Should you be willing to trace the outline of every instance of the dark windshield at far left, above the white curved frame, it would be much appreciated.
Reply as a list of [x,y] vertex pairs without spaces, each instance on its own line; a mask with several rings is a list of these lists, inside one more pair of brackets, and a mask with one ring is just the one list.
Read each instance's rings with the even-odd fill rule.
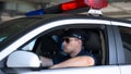
[[31,23],[34,23],[38,20],[39,18],[19,18],[0,24],[0,42],[13,35],[16,35],[22,29],[32,25]]

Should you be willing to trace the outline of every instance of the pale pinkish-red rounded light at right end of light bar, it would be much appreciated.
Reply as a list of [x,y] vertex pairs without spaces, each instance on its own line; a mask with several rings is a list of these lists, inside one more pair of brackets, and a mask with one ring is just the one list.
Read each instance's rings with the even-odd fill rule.
[[84,0],[93,9],[102,9],[108,5],[107,0]]

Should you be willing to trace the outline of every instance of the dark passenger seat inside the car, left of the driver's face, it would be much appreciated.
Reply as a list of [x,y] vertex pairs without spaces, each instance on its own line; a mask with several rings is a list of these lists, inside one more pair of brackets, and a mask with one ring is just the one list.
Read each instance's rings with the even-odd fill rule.
[[33,52],[38,55],[53,58],[60,52],[60,48],[51,36],[44,35],[36,40]]

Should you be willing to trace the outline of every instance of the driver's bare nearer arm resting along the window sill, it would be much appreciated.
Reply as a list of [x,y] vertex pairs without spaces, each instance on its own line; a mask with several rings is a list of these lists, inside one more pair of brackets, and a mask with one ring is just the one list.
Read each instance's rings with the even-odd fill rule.
[[92,66],[95,64],[95,61],[92,57],[83,55],[83,57],[75,57],[69,59],[64,62],[56,64],[50,69],[58,69],[58,67],[74,67],[74,66]]

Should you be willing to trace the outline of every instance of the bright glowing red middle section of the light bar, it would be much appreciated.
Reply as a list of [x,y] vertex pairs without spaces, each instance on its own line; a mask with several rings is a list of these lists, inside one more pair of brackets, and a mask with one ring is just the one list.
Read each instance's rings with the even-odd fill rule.
[[61,4],[62,11],[70,11],[79,8],[87,7],[87,4],[84,3],[84,0],[75,0],[70,1]]

